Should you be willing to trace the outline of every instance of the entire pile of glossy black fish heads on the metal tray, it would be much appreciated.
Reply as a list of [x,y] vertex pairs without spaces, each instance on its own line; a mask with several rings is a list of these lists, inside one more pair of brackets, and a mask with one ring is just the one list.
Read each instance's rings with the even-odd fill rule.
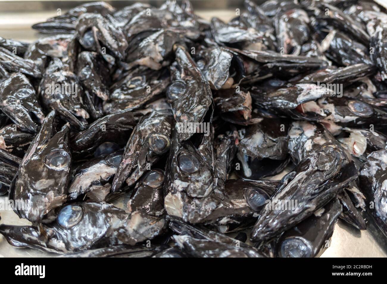
[[11,245],[317,257],[362,211],[387,237],[386,10],[244,5],[94,2],[0,38],[0,192],[32,223],[0,224]]

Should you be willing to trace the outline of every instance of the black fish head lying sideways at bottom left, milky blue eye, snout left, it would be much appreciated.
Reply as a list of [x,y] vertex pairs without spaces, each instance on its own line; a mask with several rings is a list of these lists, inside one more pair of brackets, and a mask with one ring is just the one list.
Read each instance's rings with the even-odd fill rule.
[[[135,245],[157,236],[164,228],[164,219],[138,211],[126,213],[110,204],[74,203],[82,208],[81,219],[64,228],[57,221],[33,226],[0,225],[0,233],[15,247],[32,247],[49,252],[76,252],[85,249]],[[31,239],[34,239],[31,241]]]

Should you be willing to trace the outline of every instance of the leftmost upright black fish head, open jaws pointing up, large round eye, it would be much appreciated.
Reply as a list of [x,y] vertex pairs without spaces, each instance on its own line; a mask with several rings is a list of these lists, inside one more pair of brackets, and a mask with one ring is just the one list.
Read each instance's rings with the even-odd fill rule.
[[[51,111],[43,121],[10,188],[11,200],[29,202],[27,208],[16,213],[33,224],[41,223],[46,214],[67,199],[71,167],[69,126],[65,124],[54,134],[55,116],[55,111]],[[63,157],[59,164],[55,161],[58,155]]]

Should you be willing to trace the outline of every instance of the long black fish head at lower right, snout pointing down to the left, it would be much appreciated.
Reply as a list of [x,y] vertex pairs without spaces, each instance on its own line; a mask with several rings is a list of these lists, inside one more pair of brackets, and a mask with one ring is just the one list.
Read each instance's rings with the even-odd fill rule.
[[340,153],[330,146],[301,160],[292,172],[283,177],[272,197],[272,200],[279,201],[297,200],[297,205],[291,210],[265,207],[250,238],[253,241],[268,240],[300,223],[336,196],[339,189],[357,177],[353,163],[341,165],[340,160]]

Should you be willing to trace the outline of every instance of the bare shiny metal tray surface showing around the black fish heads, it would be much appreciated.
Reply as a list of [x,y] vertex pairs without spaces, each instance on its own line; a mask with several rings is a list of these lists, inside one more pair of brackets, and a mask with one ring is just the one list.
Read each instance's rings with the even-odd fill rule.
[[[81,1],[87,2],[87,1]],[[136,1],[107,1],[114,7],[123,7]],[[164,1],[144,1],[158,6]],[[212,1],[192,1],[199,14],[204,19],[210,20],[215,16],[224,21],[235,17],[235,7],[243,7],[242,0],[212,0]],[[258,2],[258,1],[256,1]],[[263,1],[260,1],[263,2]],[[379,0],[379,3],[386,5],[387,0]],[[79,1],[0,1],[0,36],[5,38],[19,39],[32,42],[39,35],[31,29],[31,24],[44,21],[48,17],[56,14],[56,9],[66,10],[78,5]],[[211,9],[211,10],[210,10]],[[29,13],[10,13],[9,11],[28,10]],[[34,11],[34,12],[31,12]],[[37,12],[39,11],[39,12]],[[284,172],[285,173],[285,172]],[[281,179],[281,173],[272,179]],[[0,196],[0,208],[2,204],[7,207],[8,198]],[[0,210],[0,223],[13,225],[30,225],[25,219],[19,217],[12,210]],[[321,257],[387,257],[387,241],[385,236],[376,228],[368,213],[364,213],[367,223],[367,230],[360,231],[343,222],[337,222],[332,236],[330,247]],[[56,253],[46,253],[29,248],[11,247],[5,238],[0,235],[0,257],[55,257]]]

